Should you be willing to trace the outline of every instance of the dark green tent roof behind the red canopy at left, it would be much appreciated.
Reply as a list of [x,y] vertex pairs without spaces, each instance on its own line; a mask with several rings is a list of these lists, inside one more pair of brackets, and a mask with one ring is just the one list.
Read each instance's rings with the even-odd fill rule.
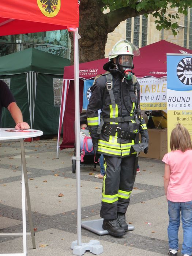
[[0,57],[0,75],[21,74],[30,71],[63,75],[64,67],[68,65],[70,65],[68,59],[29,48]]

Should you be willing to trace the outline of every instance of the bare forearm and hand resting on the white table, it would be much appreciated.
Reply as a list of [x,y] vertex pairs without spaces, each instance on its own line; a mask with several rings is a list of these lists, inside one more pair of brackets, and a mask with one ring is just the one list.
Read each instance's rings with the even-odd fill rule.
[[8,105],[7,109],[9,110],[13,120],[15,121],[15,124],[16,124],[15,129],[26,130],[30,128],[29,124],[23,122],[23,115],[20,111],[20,108],[16,104],[16,102],[11,102],[10,105]]

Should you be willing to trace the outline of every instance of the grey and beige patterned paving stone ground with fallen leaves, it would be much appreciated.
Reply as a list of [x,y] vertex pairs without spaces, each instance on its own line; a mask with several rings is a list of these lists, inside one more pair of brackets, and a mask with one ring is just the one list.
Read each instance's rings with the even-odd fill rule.
[[[59,152],[54,139],[25,142],[27,173],[36,249],[27,236],[27,256],[73,255],[77,237],[76,174],[71,171],[74,148]],[[133,231],[121,238],[98,236],[81,229],[82,243],[99,240],[103,256],[167,255],[167,202],[163,190],[161,160],[139,158],[140,173],[131,194],[126,219]],[[102,180],[94,166],[81,167],[81,219],[99,219]],[[21,163],[18,142],[0,142],[0,233],[21,232]],[[63,194],[59,197],[59,194]],[[27,231],[29,221],[27,215]],[[180,249],[182,230],[179,230]],[[1,253],[22,253],[22,237],[0,236]],[[87,251],[84,255],[93,255]],[[181,253],[178,253],[181,256]]]

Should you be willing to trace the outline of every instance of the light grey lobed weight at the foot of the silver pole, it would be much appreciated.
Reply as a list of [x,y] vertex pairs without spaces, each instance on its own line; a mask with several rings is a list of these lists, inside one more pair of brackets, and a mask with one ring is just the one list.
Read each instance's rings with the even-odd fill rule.
[[73,241],[71,244],[71,249],[73,249],[73,255],[83,255],[86,251],[90,251],[96,255],[103,253],[103,246],[100,245],[98,240],[90,240],[89,243],[82,243],[82,245],[77,245],[77,240]]

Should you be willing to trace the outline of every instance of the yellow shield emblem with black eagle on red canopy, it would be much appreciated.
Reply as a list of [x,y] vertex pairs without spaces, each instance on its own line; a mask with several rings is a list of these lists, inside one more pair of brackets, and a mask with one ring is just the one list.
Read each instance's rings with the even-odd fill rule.
[[52,18],[58,14],[61,0],[37,0],[37,4],[42,14]]

